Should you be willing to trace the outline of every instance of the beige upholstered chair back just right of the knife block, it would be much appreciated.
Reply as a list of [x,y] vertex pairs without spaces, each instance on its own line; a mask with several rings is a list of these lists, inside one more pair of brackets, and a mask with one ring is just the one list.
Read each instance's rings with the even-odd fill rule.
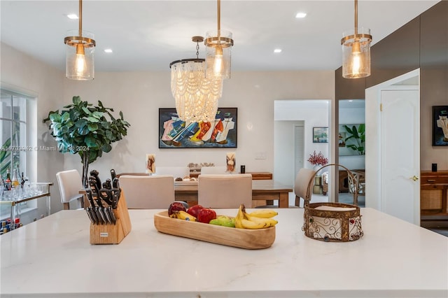
[[171,175],[122,175],[120,188],[129,209],[167,209],[174,201]]

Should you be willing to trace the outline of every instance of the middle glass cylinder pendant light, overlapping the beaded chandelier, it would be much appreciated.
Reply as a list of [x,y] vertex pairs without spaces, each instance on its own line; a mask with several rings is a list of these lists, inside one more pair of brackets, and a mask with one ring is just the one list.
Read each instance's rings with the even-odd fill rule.
[[230,78],[230,58],[233,46],[232,32],[221,30],[221,0],[218,0],[218,30],[208,31],[205,38],[207,78]]

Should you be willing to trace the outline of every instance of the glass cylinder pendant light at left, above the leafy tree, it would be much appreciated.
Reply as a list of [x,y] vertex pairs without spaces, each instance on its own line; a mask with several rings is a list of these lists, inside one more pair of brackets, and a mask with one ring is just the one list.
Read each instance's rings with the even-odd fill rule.
[[79,0],[79,29],[69,31],[66,44],[65,76],[71,80],[93,80],[95,41],[92,33],[83,31],[83,0]]

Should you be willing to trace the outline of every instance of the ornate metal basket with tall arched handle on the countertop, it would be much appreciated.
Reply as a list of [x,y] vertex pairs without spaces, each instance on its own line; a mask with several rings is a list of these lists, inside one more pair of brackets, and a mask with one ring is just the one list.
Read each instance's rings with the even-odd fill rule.
[[[354,178],[353,173],[340,164],[327,164],[316,171],[327,166],[337,166],[346,169],[347,173]],[[353,204],[342,203],[309,203],[314,177],[311,177],[304,198],[304,220],[302,230],[305,236],[332,242],[348,242],[360,239],[363,236],[361,228],[360,208]],[[355,192],[358,192],[357,185]],[[355,202],[357,204],[357,202]]]

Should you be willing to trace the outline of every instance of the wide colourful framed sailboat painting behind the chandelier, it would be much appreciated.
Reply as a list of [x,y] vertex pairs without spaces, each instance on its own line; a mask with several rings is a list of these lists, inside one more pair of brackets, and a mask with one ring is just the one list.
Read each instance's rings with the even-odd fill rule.
[[159,148],[237,148],[237,108],[218,108],[214,122],[184,122],[159,108]]

